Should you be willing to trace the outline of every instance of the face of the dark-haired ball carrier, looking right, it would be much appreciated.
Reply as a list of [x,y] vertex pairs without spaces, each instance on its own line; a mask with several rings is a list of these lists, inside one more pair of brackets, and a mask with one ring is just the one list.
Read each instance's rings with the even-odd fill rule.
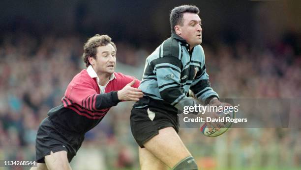
[[182,24],[176,29],[176,33],[180,35],[191,46],[195,47],[202,43],[202,27],[201,19],[198,14],[184,13],[182,18]]

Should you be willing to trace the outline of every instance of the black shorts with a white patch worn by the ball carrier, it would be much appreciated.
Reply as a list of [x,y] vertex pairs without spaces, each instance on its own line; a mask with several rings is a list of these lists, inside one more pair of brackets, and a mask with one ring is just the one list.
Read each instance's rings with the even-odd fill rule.
[[165,127],[173,127],[179,132],[179,117],[177,114],[167,113],[164,108],[153,108],[150,106],[138,109],[132,108],[131,131],[138,143],[143,148],[143,144]]

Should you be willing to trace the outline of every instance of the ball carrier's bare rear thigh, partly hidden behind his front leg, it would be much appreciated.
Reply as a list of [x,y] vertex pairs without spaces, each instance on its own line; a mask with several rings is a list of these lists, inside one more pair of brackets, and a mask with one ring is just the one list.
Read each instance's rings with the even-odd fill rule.
[[167,170],[161,160],[155,157],[147,148],[139,147],[139,162],[141,170]]

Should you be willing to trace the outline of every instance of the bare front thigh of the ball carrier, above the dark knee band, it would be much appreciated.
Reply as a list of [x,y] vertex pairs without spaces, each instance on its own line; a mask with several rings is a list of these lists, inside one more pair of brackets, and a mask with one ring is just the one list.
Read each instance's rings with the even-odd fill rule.
[[159,134],[152,137],[144,146],[170,168],[191,156],[173,127],[159,130]]

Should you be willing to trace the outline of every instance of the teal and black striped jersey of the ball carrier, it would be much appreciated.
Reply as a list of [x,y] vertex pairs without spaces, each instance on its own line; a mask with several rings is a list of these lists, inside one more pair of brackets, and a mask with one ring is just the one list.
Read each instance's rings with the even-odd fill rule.
[[134,107],[158,107],[159,103],[165,103],[165,107],[174,108],[167,108],[168,110],[182,110],[183,106],[196,104],[194,99],[186,97],[189,89],[205,104],[208,104],[209,98],[218,97],[212,90],[206,73],[202,46],[198,45],[191,50],[189,48],[184,39],[172,33],[170,38],[151,53],[146,59],[139,89],[152,101],[138,101]]

